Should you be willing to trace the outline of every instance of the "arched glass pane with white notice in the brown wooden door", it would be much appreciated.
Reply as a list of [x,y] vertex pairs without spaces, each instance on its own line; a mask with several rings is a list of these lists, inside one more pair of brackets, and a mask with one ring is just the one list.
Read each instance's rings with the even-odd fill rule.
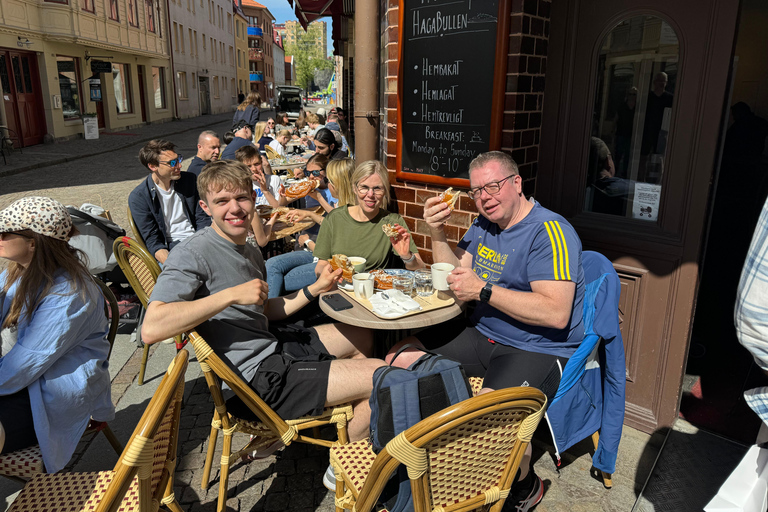
[[619,23],[600,46],[584,210],[657,221],[679,45],[656,16]]

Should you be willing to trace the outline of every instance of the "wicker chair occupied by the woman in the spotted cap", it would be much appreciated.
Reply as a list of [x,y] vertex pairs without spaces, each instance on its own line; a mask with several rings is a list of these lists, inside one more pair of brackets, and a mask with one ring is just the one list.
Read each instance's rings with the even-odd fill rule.
[[[109,342],[109,354],[107,358],[112,355],[112,346],[115,343],[115,335],[117,334],[117,327],[120,323],[120,310],[117,307],[117,299],[109,289],[99,279],[94,279],[94,282],[101,289],[101,293],[104,295],[105,307],[104,312],[107,318],[110,319],[109,332],[107,333],[107,341]],[[112,449],[115,453],[120,455],[123,451],[123,445],[115,437],[112,429],[106,421],[91,420],[85,429],[83,435],[94,434],[101,432],[104,437],[107,438]],[[43,454],[40,452],[39,446],[30,446],[29,448],[23,448],[15,452],[6,453],[0,455],[0,476],[10,478],[12,480],[18,480],[26,482],[38,473],[45,473],[45,466],[43,465]]]

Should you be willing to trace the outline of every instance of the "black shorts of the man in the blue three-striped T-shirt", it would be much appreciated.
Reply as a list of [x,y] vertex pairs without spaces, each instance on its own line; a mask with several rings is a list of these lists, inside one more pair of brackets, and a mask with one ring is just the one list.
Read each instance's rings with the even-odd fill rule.
[[463,318],[430,327],[416,338],[427,350],[460,362],[467,377],[483,377],[484,387],[531,386],[541,390],[548,400],[555,396],[562,368],[568,362],[565,357],[494,343]]

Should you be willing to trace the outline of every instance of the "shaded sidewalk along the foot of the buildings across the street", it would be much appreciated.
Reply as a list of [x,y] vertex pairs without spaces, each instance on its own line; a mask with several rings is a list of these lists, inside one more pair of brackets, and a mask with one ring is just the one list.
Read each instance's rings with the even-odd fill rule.
[[[203,130],[232,119],[232,112],[179,119],[165,123],[140,126],[120,132],[101,132],[98,139],[74,139],[53,144],[38,144],[14,150],[6,155],[8,163],[0,167],[0,177],[19,174],[40,167],[63,164],[94,154],[111,153],[134,144],[156,138],[170,138],[189,130]],[[273,110],[263,110],[262,116],[274,116]]]

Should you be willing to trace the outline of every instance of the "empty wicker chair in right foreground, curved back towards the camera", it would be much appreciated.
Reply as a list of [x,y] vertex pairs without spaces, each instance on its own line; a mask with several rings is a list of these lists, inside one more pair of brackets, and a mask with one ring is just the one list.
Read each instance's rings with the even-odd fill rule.
[[546,404],[534,388],[472,397],[400,433],[378,454],[368,440],[331,448],[336,510],[373,510],[406,466],[415,512],[499,512]]

